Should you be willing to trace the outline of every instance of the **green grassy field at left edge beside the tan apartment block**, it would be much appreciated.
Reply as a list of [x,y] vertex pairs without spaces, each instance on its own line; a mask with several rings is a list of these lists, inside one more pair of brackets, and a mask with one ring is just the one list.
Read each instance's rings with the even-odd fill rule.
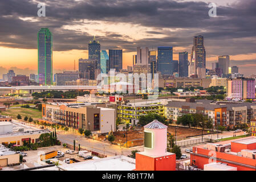
[[13,119],[17,119],[17,115],[21,114],[22,119],[27,116],[33,119],[41,119],[42,112],[37,109],[30,109],[30,108],[15,108],[15,109],[7,109],[6,111],[1,112],[2,115],[9,115],[13,117]]

